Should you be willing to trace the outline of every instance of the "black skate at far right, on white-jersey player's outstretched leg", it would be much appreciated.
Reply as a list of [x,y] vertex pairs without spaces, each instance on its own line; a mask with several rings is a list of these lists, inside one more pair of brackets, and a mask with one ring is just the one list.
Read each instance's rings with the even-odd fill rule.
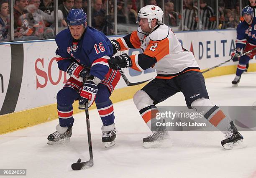
[[221,145],[226,150],[231,150],[243,142],[243,136],[238,132],[233,121],[230,122],[230,125],[231,127],[228,129],[225,135],[226,139],[221,141]]

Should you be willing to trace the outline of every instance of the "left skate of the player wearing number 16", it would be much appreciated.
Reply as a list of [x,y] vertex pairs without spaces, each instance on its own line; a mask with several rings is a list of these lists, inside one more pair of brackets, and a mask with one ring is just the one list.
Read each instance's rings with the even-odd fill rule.
[[48,145],[56,143],[65,143],[70,141],[72,135],[72,127],[61,127],[59,124],[56,126],[56,131],[50,134],[47,139]]

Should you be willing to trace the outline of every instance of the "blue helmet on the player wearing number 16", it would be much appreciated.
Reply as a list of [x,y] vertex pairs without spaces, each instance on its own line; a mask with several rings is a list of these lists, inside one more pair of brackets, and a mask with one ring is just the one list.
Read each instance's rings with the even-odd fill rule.
[[87,15],[82,9],[71,9],[67,16],[68,25],[80,25],[85,24]]

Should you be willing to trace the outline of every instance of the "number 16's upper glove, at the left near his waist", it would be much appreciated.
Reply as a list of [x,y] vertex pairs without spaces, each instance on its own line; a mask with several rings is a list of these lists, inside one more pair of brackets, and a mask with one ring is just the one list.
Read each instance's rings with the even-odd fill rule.
[[87,71],[87,69],[84,69],[83,66],[80,66],[79,64],[74,62],[67,69],[67,73],[69,74],[69,76],[82,82],[83,81],[82,77],[88,76],[89,71]]

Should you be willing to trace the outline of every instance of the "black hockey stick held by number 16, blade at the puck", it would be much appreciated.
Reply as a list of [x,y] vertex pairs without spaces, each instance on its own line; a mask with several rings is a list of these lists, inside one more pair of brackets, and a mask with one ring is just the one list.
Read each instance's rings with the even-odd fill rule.
[[[83,79],[85,82],[86,79]],[[88,111],[88,103],[85,103],[85,117],[86,117],[86,126],[87,126],[87,137],[88,137],[88,145],[89,145],[89,154],[90,160],[81,163],[81,159],[77,160],[77,163],[73,163],[71,168],[73,170],[81,170],[87,169],[93,166],[93,155],[92,155],[92,137],[91,137],[91,128],[90,128],[90,119],[89,119],[89,111]]]

